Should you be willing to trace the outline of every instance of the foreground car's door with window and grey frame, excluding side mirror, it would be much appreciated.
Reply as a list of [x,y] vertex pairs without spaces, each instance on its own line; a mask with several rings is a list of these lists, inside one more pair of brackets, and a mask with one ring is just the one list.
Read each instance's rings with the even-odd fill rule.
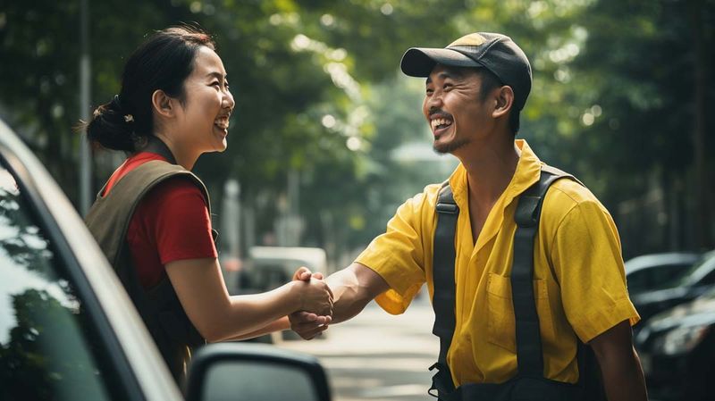
[[2,121],[0,399],[181,399],[80,217]]

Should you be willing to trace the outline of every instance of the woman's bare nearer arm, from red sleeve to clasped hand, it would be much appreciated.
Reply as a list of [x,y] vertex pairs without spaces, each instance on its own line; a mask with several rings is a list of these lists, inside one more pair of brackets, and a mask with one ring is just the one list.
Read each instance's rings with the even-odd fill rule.
[[332,293],[323,280],[293,280],[261,294],[231,297],[215,258],[180,260],[165,268],[189,320],[208,342],[277,330],[285,323],[275,321],[296,311],[332,314]]

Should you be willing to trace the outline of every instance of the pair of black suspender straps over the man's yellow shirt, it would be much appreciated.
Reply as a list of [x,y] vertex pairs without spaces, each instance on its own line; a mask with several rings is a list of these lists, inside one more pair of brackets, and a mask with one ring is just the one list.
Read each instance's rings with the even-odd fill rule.
[[[514,236],[511,292],[516,318],[519,377],[543,377],[542,340],[533,284],[534,238],[539,229],[543,197],[551,184],[561,178],[576,180],[564,171],[543,166],[539,181],[519,196],[514,215],[517,231]],[[432,392],[436,389],[441,399],[450,399],[449,396],[455,388],[447,363],[447,352],[455,329],[454,238],[459,209],[454,202],[449,182],[442,185],[436,209],[437,229],[433,242],[433,333],[440,338],[440,355],[437,363],[430,368],[438,369],[433,376],[430,394],[436,397]]]

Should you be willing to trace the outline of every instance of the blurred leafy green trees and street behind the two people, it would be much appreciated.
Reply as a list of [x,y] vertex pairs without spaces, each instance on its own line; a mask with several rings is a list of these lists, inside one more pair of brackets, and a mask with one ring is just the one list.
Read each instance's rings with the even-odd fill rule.
[[[125,155],[72,127],[118,93],[147,33],[179,22],[214,34],[236,99],[228,150],[195,169],[232,292],[269,288],[296,263],[348,264],[406,198],[449,176],[456,161],[433,154],[421,114],[425,82],[400,73],[400,56],[474,31],[525,50],[534,86],[518,137],[601,199],[624,259],[656,254],[631,269],[678,266],[632,282],[704,288],[682,302],[715,283],[702,268],[715,264],[702,256],[715,247],[713,0],[2,0],[0,118],[80,213]],[[649,315],[676,305],[656,298],[638,302],[658,305]],[[677,330],[690,350],[713,337]],[[645,363],[660,351],[643,348]]]

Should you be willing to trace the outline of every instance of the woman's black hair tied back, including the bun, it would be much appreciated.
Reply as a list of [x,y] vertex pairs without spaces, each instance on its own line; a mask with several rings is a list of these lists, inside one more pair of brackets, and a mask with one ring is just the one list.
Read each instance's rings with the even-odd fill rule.
[[161,89],[184,102],[184,80],[194,69],[200,46],[215,50],[206,31],[188,25],[159,30],[147,38],[124,65],[119,95],[97,107],[91,121],[83,124],[88,140],[134,152],[143,138],[154,133],[152,94]]

